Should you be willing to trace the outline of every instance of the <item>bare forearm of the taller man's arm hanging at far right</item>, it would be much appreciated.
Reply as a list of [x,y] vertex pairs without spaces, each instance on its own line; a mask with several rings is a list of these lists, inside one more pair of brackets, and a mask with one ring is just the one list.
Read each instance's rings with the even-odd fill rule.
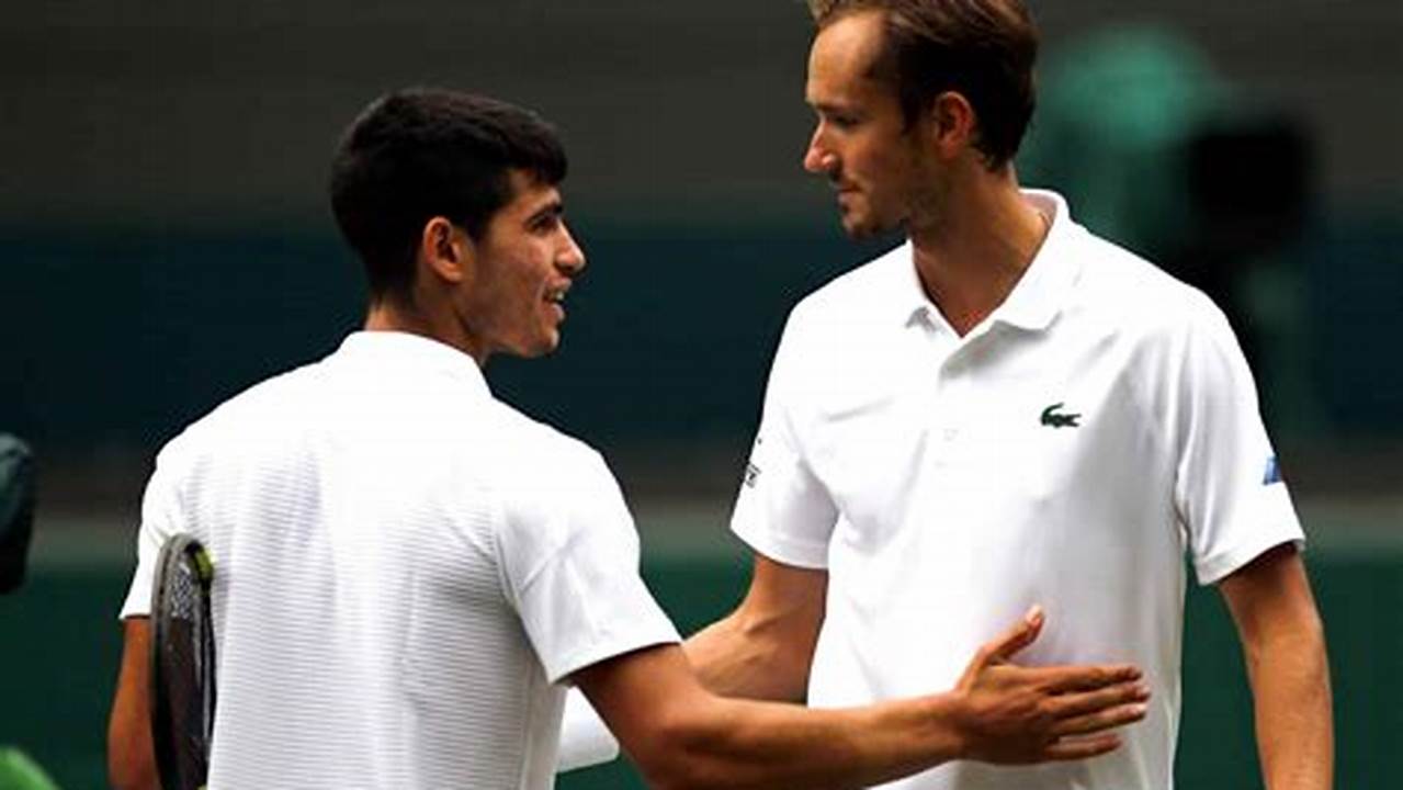
[[1326,790],[1334,773],[1330,674],[1319,623],[1249,654],[1257,749],[1268,790]]

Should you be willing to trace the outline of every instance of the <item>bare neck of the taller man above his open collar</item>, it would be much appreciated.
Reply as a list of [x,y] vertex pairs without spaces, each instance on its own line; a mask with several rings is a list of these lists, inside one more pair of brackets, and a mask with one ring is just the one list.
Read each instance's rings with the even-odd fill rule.
[[964,337],[1007,299],[1049,227],[1051,217],[1019,191],[1012,166],[964,180],[939,216],[911,227],[926,296]]

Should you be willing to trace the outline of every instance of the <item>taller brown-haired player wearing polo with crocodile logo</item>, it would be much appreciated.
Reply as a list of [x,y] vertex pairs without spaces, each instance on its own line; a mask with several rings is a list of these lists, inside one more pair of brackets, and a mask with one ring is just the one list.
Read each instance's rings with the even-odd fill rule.
[[810,6],[804,167],[849,234],[908,240],[788,317],[731,522],[751,589],[689,640],[703,681],[821,707],[943,688],[1040,601],[1028,661],[1145,668],[1155,703],[1125,748],[892,787],[1163,790],[1187,553],[1237,624],[1267,787],[1329,787],[1324,636],[1251,373],[1200,292],[1020,189],[1027,10]]

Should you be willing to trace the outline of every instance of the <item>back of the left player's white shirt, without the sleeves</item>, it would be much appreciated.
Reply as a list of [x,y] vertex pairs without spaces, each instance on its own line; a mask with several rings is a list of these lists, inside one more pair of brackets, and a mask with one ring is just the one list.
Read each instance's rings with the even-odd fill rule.
[[549,786],[561,693],[504,584],[498,501],[547,429],[476,369],[348,347],[163,453],[217,565],[210,786]]

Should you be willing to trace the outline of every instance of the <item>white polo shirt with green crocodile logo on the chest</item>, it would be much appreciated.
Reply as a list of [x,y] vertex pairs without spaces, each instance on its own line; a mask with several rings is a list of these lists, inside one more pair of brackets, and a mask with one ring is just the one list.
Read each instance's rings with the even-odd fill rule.
[[1163,790],[1180,707],[1184,556],[1208,584],[1302,540],[1251,373],[1200,292],[1073,223],[958,337],[908,244],[793,310],[732,529],[826,568],[810,703],[951,688],[1031,603],[1024,664],[1145,669],[1146,720],[1090,762],[955,762],[891,787]]

